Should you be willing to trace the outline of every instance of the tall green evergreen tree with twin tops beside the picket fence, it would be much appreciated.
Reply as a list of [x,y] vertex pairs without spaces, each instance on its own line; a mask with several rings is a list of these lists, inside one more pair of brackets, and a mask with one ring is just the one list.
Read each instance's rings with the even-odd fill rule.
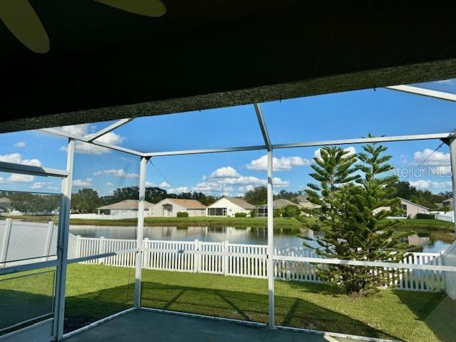
[[[314,216],[323,222],[318,226],[323,237],[316,239],[318,248],[304,244],[324,258],[397,262],[408,246],[401,239],[410,233],[398,232],[398,220],[385,219],[401,212],[400,200],[392,198],[397,176],[384,175],[392,170],[387,163],[391,156],[383,155],[387,148],[382,145],[368,144],[363,150],[349,155],[341,147],[323,147],[321,159],[314,157],[311,177],[318,185],[309,184],[306,193],[320,206]],[[358,295],[395,276],[395,271],[361,266],[331,264],[317,269],[323,280]]]

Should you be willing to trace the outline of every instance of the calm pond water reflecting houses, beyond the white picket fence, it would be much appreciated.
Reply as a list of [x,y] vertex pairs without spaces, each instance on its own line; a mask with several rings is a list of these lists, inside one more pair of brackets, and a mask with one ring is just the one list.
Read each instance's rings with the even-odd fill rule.
[[[117,226],[70,226],[71,234],[81,237],[105,237],[107,239],[135,239],[136,227]],[[321,232],[311,229],[274,229],[275,247],[300,247],[303,239],[298,234],[316,238]],[[450,233],[449,233],[450,234]],[[267,244],[266,227],[144,227],[144,237],[151,240],[204,242],[229,241],[233,244]],[[450,246],[452,234],[413,234],[408,242],[415,245],[415,252],[440,252]],[[316,242],[311,245],[318,247]]]

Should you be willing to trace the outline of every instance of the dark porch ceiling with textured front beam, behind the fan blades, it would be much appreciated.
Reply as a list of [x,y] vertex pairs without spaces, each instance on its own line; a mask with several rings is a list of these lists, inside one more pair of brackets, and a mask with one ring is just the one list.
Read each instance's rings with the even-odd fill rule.
[[0,22],[0,132],[456,77],[454,1],[162,1],[30,0],[44,54]]

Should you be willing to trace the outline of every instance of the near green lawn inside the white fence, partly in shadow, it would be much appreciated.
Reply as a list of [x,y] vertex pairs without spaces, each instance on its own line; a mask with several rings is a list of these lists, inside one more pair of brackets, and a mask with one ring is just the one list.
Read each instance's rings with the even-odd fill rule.
[[[72,264],[67,279],[66,331],[133,306],[134,269]],[[267,320],[265,279],[150,270],[142,279],[142,306]],[[33,287],[24,286],[24,278],[6,283],[0,282],[0,312],[14,311],[13,299],[30,304],[48,298],[43,281]],[[279,325],[405,341],[454,341],[456,336],[456,302],[441,293],[382,290],[354,299],[328,285],[276,281],[275,299]],[[1,315],[0,325],[6,316]]]

